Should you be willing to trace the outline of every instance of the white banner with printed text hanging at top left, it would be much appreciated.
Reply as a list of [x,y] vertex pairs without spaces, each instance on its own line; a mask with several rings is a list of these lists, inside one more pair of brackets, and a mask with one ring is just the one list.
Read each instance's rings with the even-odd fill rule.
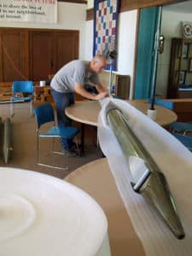
[[57,0],[0,0],[0,21],[57,22]]

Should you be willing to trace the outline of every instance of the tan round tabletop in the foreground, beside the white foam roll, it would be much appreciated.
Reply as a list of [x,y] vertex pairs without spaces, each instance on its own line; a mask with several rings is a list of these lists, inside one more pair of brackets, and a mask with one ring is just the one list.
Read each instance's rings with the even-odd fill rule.
[[131,224],[106,158],[79,167],[65,180],[83,189],[102,207],[108,218],[112,256],[145,255],[142,242]]

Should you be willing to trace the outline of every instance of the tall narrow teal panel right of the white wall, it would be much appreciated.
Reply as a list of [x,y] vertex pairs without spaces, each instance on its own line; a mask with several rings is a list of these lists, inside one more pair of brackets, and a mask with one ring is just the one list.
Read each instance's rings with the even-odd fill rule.
[[150,96],[157,15],[158,7],[141,10],[137,44],[135,99],[144,99]]

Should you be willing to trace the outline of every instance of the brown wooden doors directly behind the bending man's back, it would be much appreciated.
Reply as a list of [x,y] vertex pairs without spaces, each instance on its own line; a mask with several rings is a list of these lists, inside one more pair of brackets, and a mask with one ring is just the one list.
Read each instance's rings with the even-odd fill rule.
[[78,31],[32,31],[30,32],[31,79],[48,79],[68,61],[79,57]]

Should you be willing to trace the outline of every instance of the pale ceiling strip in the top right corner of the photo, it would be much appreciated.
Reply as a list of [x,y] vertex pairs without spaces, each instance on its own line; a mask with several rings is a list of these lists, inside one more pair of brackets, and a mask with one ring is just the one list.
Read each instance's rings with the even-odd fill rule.
[[192,14],[192,0],[166,5],[163,9],[184,14]]

